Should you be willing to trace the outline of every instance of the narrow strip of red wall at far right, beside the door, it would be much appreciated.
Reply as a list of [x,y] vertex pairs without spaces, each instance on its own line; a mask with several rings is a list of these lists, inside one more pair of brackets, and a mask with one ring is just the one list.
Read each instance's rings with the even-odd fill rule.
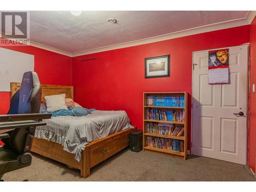
[[252,84],[256,84],[256,18],[250,31],[250,111],[249,111],[249,146],[248,164],[256,173],[256,92],[252,92]]

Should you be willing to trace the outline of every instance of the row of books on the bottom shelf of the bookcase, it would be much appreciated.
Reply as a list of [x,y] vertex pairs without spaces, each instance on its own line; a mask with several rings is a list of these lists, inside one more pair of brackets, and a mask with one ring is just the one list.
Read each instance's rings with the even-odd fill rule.
[[184,141],[146,136],[146,146],[184,152]]

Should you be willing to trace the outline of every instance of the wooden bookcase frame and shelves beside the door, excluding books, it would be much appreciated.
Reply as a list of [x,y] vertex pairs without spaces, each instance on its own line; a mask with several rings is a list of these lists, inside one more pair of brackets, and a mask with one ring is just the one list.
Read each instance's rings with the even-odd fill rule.
[[[186,92],[145,92],[143,93],[143,151],[180,157],[182,159],[186,159],[187,157],[187,93]],[[184,97],[184,106],[150,106],[147,103],[147,96],[169,96],[169,97]],[[155,104],[155,103],[154,103]],[[147,109],[159,109],[162,111],[184,111],[184,122],[180,121],[164,121],[164,120],[155,120],[155,119],[147,119],[146,111]],[[184,126],[184,135],[183,136],[172,136],[172,135],[162,135],[156,133],[146,132],[146,123],[164,123],[164,124],[173,124],[174,126]],[[165,139],[175,139],[184,141],[184,152],[170,150],[166,148],[157,148],[153,146],[146,145],[146,137],[159,137]]]

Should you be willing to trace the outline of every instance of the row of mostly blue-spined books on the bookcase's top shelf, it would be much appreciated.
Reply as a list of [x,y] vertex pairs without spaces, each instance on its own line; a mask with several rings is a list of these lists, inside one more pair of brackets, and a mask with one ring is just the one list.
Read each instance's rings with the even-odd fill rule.
[[185,99],[183,96],[147,96],[146,97],[147,106],[185,106]]

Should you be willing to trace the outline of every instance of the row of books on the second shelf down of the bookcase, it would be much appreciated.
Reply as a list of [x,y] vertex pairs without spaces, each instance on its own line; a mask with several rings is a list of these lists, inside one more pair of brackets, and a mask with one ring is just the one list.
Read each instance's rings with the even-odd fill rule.
[[159,109],[146,109],[146,119],[184,122],[184,116],[184,110],[163,111]]

